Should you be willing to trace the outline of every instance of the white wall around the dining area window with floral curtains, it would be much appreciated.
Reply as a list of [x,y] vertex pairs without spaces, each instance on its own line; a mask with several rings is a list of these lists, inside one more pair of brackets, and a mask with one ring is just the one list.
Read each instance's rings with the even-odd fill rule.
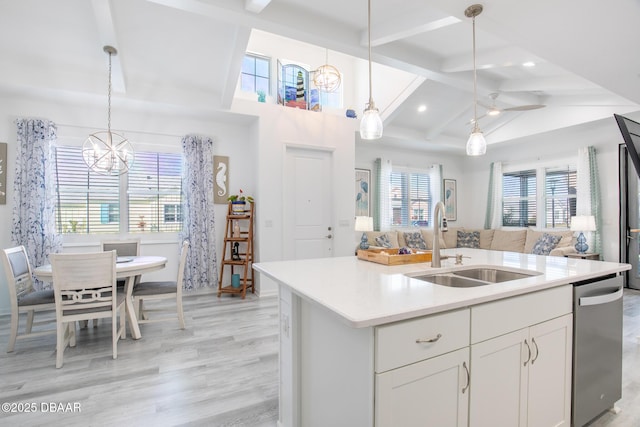
[[[35,99],[25,96],[3,95],[0,103],[0,142],[8,143],[7,204],[0,205],[0,246],[13,246],[11,223],[13,212],[13,179],[16,155],[16,127],[18,117],[41,117],[58,125],[58,141],[82,143],[90,131],[106,127],[106,105],[87,103],[61,104],[51,99]],[[90,102],[89,102],[90,104]],[[157,109],[157,108],[156,108]],[[206,135],[214,140],[215,153],[229,156],[229,184],[232,192],[242,188],[246,194],[256,195],[256,168],[258,157],[257,127],[255,117],[237,114],[190,114],[186,111],[130,110],[114,103],[112,111],[114,131],[124,133],[135,149],[181,152],[181,138],[190,133]],[[221,254],[225,230],[227,205],[216,205],[216,242]],[[178,263],[178,236],[176,233],[133,233],[142,238],[143,255],[161,255],[169,259],[164,270],[150,273],[148,279],[175,278]],[[109,235],[110,238],[126,236]],[[97,251],[103,235],[65,235],[64,252]],[[220,262],[220,260],[219,260]],[[218,264],[219,264],[218,262]],[[218,265],[219,267],[219,265]],[[0,267],[2,270],[2,267]],[[217,283],[212,283],[217,286]],[[215,297],[215,296],[213,296]],[[0,271],[0,313],[7,313],[8,291],[4,271]]]

